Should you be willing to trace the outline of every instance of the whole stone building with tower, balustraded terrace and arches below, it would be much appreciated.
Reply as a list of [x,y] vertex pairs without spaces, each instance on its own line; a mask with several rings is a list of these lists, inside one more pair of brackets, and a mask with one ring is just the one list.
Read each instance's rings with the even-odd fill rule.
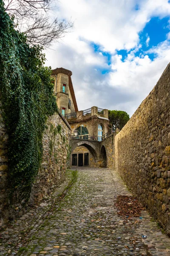
[[[100,149],[100,142],[108,136],[108,110],[94,106],[78,111],[71,75],[70,70],[62,67],[52,70],[59,111],[71,126],[72,149],[74,148],[71,165],[106,167],[106,150],[104,145]],[[77,143],[81,145],[77,146]]]

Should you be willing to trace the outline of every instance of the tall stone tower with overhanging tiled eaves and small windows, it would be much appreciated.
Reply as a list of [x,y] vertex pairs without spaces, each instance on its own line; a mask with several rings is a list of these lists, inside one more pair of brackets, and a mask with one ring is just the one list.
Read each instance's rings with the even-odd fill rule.
[[54,94],[57,98],[59,111],[63,116],[78,111],[71,75],[72,72],[70,70],[66,70],[62,67],[52,70]]

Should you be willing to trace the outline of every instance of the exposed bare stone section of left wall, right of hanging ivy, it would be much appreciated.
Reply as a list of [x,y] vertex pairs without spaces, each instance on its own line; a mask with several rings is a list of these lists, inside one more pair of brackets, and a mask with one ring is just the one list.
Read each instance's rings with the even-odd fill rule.
[[43,135],[43,157],[32,187],[30,204],[37,203],[65,179],[71,152],[71,129],[68,122],[54,114],[47,120]]

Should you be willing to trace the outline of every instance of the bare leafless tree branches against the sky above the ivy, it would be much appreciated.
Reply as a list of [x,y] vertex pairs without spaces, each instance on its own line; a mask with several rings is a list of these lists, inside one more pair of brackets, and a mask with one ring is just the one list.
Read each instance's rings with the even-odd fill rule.
[[17,29],[27,35],[29,44],[49,48],[73,27],[71,20],[51,22],[50,11],[56,7],[53,0],[6,0],[6,12],[14,16]]

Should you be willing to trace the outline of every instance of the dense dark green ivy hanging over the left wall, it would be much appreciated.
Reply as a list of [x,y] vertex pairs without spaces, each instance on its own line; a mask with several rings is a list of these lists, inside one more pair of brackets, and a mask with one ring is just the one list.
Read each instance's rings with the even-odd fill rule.
[[51,68],[44,63],[42,48],[26,43],[0,0],[0,101],[9,134],[11,192],[19,201],[29,198],[42,161],[45,121],[57,111]]

